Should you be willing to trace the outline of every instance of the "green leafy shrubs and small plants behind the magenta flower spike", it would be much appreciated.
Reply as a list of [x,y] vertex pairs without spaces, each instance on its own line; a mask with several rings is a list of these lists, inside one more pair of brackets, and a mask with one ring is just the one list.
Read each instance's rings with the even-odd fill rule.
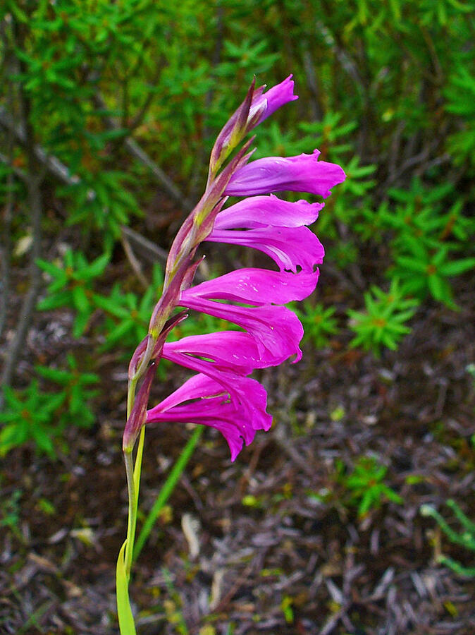
[[[118,447],[125,370],[159,296],[166,249],[202,192],[216,133],[254,75],[270,86],[293,73],[300,95],[258,130],[257,156],[318,147],[348,176],[315,226],[326,260],[318,293],[296,307],[308,363],[297,381],[318,376],[321,356],[336,364],[335,381],[338,363],[395,368],[400,347],[429,314],[452,329],[467,326],[474,11],[471,0],[5,0],[5,460],[30,456],[63,470],[84,428],[87,438]],[[257,258],[218,248],[211,255],[204,277]],[[182,334],[216,326],[190,317]],[[467,395],[468,341],[464,354],[458,379]],[[165,392],[178,377],[166,366],[161,373]],[[345,418],[339,407],[333,422]],[[290,437],[311,434],[311,418],[299,423],[295,406],[286,416]],[[444,423],[437,425],[443,437]],[[472,464],[474,432],[464,446]],[[403,504],[385,484],[382,456],[353,459],[332,463],[331,487],[313,488],[311,500],[340,512],[343,505],[360,519],[382,504]],[[1,478],[8,500],[1,522],[20,540],[25,488]],[[259,497],[248,496],[243,504],[259,509]],[[44,506],[42,513],[56,513],[54,502]],[[295,598],[285,598],[284,626],[295,617]],[[168,609],[162,613],[172,624]],[[187,632],[185,622],[176,632]]]

